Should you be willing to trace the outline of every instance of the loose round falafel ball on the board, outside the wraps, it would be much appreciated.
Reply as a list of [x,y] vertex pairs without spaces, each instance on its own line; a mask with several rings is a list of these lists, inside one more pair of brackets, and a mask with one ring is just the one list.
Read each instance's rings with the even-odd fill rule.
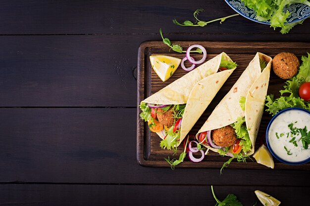
[[293,53],[281,52],[272,60],[272,69],[281,79],[287,80],[294,77],[299,68],[299,60]]

